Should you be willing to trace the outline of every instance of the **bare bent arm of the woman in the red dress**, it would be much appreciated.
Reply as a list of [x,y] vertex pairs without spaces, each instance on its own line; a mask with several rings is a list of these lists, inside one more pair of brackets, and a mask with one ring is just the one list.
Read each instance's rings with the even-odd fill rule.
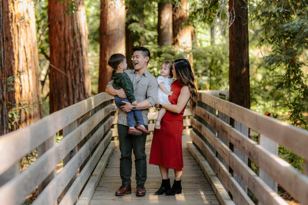
[[189,98],[190,98],[190,91],[188,89],[188,86],[183,86],[179,98],[177,99],[177,103],[176,104],[163,103],[162,107],[165,108],[166,110],[169,110],[170,112],[180,113],[186,106]]

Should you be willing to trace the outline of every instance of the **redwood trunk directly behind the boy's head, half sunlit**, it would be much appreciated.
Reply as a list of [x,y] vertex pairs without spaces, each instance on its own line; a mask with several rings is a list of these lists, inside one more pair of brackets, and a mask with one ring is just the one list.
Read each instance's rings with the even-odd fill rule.
[[[99,87],[104,92],[111,80],[112,68],[107,65],[113,53],[125,55],[125,2],[124,0],[101,0],[99,27]],[[130,59],[127,59],[130,61]]]

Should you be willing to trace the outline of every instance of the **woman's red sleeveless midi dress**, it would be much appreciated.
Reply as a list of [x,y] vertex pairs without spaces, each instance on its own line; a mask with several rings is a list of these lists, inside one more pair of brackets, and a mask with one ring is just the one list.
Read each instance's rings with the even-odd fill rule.
[[[171,104],[176,104],[182,86],[178,80],[171,84]],[[183,170],[182,133],[183,114],[167,110],[160,122],[160,129],[154,129],[149,164],[162,165],[165,168]]]

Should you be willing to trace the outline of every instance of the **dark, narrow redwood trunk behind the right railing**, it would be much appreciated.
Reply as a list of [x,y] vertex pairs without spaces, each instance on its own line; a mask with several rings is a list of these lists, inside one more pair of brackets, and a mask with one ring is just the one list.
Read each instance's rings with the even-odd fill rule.
[[230,0],[229,9],[232,6],[236,18],[229,28],[229,101],[249,109],[248,12],[243,8],[247,3]]

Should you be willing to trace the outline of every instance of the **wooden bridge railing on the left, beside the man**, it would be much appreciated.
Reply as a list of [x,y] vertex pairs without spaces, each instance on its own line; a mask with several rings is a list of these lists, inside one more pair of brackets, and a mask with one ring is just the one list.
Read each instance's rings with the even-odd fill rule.
[[[38,158],[0,185],[0,204],[21,204],[36,187],[39,195],[33,204],[55,204],[60,195],[63,197],[60,204],[74,204],[77,199],[77,204],[88,203],[84,195],[93,194],[98,175],[102,174],[115,146],[110,143],[110,128],[116,110],[113,97],[99,93],[1,136],[0,178],[34,149]],[[60,130],[63,139],[56,143],[55,136]],[[62,160],[63,169],[55,174]]]

